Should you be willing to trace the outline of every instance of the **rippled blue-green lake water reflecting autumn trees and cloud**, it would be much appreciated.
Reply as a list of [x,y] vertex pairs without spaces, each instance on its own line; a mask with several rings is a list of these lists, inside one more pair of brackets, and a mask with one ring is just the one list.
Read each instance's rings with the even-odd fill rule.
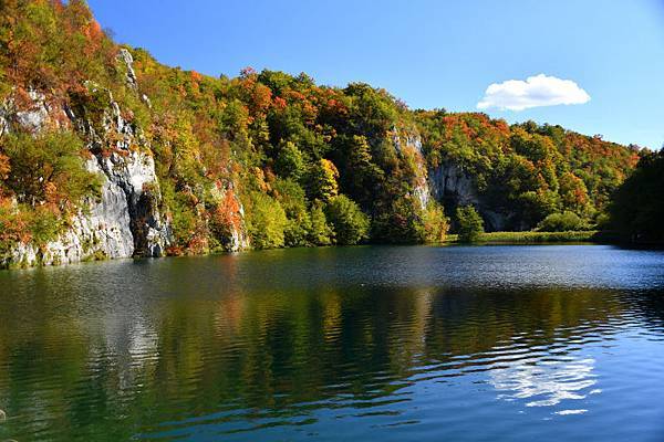
[[0,272],[0,441],[664,441],[664,252]]

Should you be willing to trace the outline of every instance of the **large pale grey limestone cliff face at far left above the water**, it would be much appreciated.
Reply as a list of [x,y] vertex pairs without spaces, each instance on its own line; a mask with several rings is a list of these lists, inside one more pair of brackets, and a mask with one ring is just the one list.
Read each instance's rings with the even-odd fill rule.
[[[126,52],[121,60],[127,63],[128,85],[135,86],[131,54]],[[97,126],[86,115],[49,103],[49,97],[37,91],[30,93],[32,105],[28,109],[15,110],[12,103],[6,103],[0,110],[1,131],[9,130],[12,123],[32,133],[46,127],[71,127],[82,134],[90,151],[86,168],[103,182],[101,198],[84,201],[70,228],[55,241],[42,246],[18,243],[10,257],[0,263],[4,266],[160,256],[170,242],[149,145],[139,129],[123,118],[110,92],[87,86],[107,98],[108,106]],[[85,114],[85,109],[81,113]]]

